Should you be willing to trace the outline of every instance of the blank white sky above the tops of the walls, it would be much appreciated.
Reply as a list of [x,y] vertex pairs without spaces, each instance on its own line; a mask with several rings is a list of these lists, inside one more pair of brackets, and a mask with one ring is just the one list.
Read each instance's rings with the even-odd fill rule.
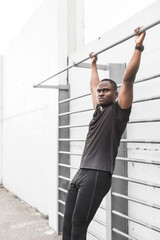
[[[43,1],[45,0],[0,0],[1,55]],[[155,0],[84,0],[85,43],[101,36],[153,2]]]

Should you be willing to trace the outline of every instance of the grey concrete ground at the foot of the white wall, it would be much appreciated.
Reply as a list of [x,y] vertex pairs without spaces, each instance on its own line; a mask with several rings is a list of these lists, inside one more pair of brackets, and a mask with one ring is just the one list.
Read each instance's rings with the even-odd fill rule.
[[60,240],[41,213],[0,185],[0,239]]

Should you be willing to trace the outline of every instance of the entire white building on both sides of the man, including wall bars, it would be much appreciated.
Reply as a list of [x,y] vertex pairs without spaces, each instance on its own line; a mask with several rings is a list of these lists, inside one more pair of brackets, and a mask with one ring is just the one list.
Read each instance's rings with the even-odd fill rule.
[[[37,88],[33,85],[125,38],[137,26],[154,23],[159,10],[156,1],[84,46],[83,1],[46,0],[1,58],[1,182],[48,215],[57,232],[62,231],[67,187],[79,167],[93,114],[90,69],[73,67]],[[160,25],[147,30],[113,187],[90,225],[88,239],[160,237],[159,38]],[[134,46],[131,38],[99,54],[100,78],[111,77],[119,84]]]

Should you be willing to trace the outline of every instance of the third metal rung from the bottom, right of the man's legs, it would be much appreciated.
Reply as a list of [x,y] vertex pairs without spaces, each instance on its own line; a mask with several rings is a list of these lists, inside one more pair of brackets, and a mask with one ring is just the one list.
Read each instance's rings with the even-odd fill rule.
[[157,205],[157,204],[154,204],[154,203],[149,203],[149,202],[146,202],[146,201],[138,200],[138,199],[135,199],[135,198],[132,198],[132,197],[120,194],[120,193],[116,193],[116,192],[112,192],[112,195],[115,196],[115,197],[123,198],[123,199],[126,199],[128,201],[136,202],[136,203],[145,205],[147,207],[152,207],[152,208],[156,208],[156,209],[160,210],[160,205]]

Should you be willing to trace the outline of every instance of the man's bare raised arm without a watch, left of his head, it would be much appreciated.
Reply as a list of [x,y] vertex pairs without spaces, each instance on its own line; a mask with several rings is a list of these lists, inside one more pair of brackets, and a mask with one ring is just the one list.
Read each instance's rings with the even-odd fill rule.
[[[92,53],[89,54],[90,56]],[[91,58],[91,80],[90,80],[90,90],[92,94],[92,102],[94,109],[96,108],[98,101],[97,101],[97,86],[99,84],[99,77],[97,71],[97,56]]]

